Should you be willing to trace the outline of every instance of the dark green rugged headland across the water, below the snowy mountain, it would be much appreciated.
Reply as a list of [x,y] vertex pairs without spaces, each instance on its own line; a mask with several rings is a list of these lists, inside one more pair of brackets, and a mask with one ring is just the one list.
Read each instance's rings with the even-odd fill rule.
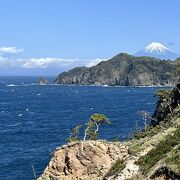
[[108,61],[61,73],[54,83],[81,85],[151,86],[175,85],[180,61],[118,54]]

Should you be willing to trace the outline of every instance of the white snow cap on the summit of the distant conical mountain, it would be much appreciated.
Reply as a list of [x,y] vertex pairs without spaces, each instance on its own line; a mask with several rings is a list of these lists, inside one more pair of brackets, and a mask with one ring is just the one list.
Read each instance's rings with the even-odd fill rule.
[[152,42],[151,44],[145,47],[145,52],[164,53],[167,50],[170,51],[170,49],[158,42]]

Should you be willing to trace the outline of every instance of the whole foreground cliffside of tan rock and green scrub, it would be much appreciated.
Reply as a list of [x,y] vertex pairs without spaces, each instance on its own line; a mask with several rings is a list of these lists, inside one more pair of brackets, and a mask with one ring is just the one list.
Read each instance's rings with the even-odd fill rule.
[[[38,180],[180,179],[180,83],[157,93],[146,130],[126,142],[78,141],[64,145]],[[162,116],[160,116],[160,114]]]

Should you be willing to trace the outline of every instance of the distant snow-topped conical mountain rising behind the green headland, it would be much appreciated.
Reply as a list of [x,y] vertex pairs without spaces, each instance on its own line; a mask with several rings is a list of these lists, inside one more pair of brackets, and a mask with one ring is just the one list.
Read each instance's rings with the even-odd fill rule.
[[180,57],[179,54],[172,52],[170,49],[158,42],[152,42],[146,46],[144,50],[137,52],[135,56],[150,56],[162,60],[175,60]]

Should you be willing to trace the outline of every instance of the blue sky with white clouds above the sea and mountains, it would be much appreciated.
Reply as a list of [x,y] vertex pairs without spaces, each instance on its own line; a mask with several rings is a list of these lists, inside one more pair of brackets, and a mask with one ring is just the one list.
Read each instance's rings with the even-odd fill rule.
[[0,0],[0,75],[57,75],[152,41],[180,53],[179,7],[179,0]]

